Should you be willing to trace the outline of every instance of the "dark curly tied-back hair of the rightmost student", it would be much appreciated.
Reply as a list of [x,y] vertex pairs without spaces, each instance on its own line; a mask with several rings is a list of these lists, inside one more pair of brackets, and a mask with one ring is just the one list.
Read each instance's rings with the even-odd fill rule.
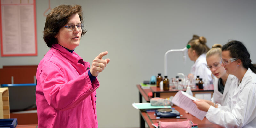
[[256,64],[251,63],[250,54],[242,42],[232,40],[222,46],[222,51],[229,51],[230,57],[240,59],[244,68],[250,68],[256,73]]

